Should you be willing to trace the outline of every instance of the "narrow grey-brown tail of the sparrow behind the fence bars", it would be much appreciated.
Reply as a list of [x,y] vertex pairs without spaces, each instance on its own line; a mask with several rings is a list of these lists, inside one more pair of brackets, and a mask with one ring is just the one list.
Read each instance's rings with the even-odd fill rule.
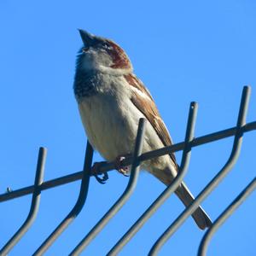
[[[183,201],[185,207],[189,207],[189,205],[194,201],[194,196],[190,193],[185,183],[181,183],[175,193],[178,198]],[[198,207],[195,210],[195,212],[192,214],[192,217],[195,219],[195,223],[201,230],[204,230],[212,225],[211,219],[201,207]]]

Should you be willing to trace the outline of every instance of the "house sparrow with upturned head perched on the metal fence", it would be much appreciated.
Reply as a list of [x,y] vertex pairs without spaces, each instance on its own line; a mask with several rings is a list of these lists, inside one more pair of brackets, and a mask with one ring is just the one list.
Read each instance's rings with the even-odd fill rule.
[[[122,160],[133,151],[140,118],[148,119],[143,152],[170,146],[166,125],[148,89],[133,73],[125,51],[112,40],[79,32],[84,45],[77,58],[73,90],[92,147],[108,161]],[[141,168],[166,186],[178,172],[174,154],[143,161]],[[175,193],[186,207],[194,200],[185,183]],[[192,217],[201,230],[212,224],[201,207]]]

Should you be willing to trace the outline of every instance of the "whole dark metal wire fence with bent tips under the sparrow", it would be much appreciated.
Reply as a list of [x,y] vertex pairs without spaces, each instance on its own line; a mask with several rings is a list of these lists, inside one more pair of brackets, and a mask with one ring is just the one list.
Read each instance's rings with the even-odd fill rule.
[[[205,200],[207,195],[209,195],[212,190],[218,186],[218,183],[227,175],[228,172],[236,164],[236,160],[241,151],[242,137],[245,132],[256,130],[256,121],[251,123],[246,123],[247,107],[250,96],[250,87],[245,86],[241,95],[241,104],[238,113],[237,123],[235,127],[226,129],[224,131],[214,132],[212,134],[207,134],[202,137],[194,137],[195,130],[195,119],[197,113],[197,103],[191,102],[189,108],[189,118],[187,123],[186,136],[183,143],[177,143],[172,146],[165,148],[160,148],[151,152],[142,154],[143,148],[143,137],[145,128],[145,119],[140,119],[137,139],[135,144],[135,149],[132,158],[127,158],[122,161],[122,166],[131,165],[131,175],[129,183],[125,188],[123,194],[119,199],[113,204],[113,206],[105,213],[105,215],[98,221],[98,223],[90,230],[90,232],[84,236],[84,238],[79,242],[79,244],[73,249],[69,255],[79,255],[85,247],[87,247],[97,234],[104,228],[108,221],[113,218],[113,216],[119,211],[119,209],[129,200],[132,192],[136,188],[137,177],[139,175],[139,165],[144,160],[149,160],[154,157],[158,157],[164,154],[170,154],[178,150],[183,150],[183,156],[180,166],[180,172],[178,172],[177,177],[174,178],[173,182],[160,194],[160,196],[148,207],[148,209],[143,212],[142,216],[137,219],[135,224],[122,236],[119,241],[112,247],[107,255],[116,255],[125,246],[127,242],[131,240],[133,236],[136,235],[137,231],[140,230],[145,224],[145,222],[150,218],[154,212],[159,208],[167,198],[177,189],[177,186],[182,182],[183,177],[186,175],[189,166],[190,151],[191,148],[199,146],[205,143],[212,143],[214,141],[223,139],[225,137],[234,137],[233,148],[231,150],[230,158],[227,160],[223,168],[216,174],[215,177],[207,184],[207,186],[201,190],[201,193],[196,196],[195,201],[189,205],[176,219],[175,221],[165,230],[165,232],[160,236],[160,238],[155,241],[153,247],[150,249],[148,255],[157,255],[163,244],[174,234],[174,232],[183,224],[183,222],[195,212],[195,209]],[[76,201],[73,209],[67,214],[67,217],[61,221],[55,230],[48,236],[48,238],[40,245],[33,255],[42,255],[61,235],[61,233],[67,229],[67,226],[79,215],[79,212],[84,207],[86,201],[87,192],[90,183],[90,177],[95,175],[90,172],[93,157],[93,149],[90,143],[87,143],[85,157],[84,157],[84,171],[75,172],[73,174],[58,177],[46,182],[43,182],[44,177],[44,162],[46,158],[46,149],[40,148],[38,153],[38,166],[35,177],[34,185],[28,186],[26,188],[17,189],[15,191],[9,191],[6,194],[0,195],[0,202],[9,201],[18,198],[23,195],[32,194],[32,203],[30,211],[25,222],[20,226],[20,229],[16,231],[15,235],[12,236],[9,241],[3,246],[0,251],[0,255],[7,255],[9,251],[15,246],[15,244],[21,239],[21,237],[26,233],[35,218],[37,217],[38,207],[40,203],[40,195],[44,189],[51,189],[65,183],[71,183],[76,180],[81,179],[79,198]],[[100,179],[102,182],[108,176],[108,171],[114,169],[113,163],[106,163],[99,168],[98,175],[102,174],[103,178]],[[99,179],[99,177],[98,177]],[[236,197],[234,201],[230,203],[224,212],[222,212],[219,217],[213,222],[212,226],[206,231],[205,235],[201,240],[200,247],[198,249],[198,255],[206,255],[207,246],[211,241],[212,235],[218,230],[219,226],[224,223],[224,221],[229,218],[229,216],[236,210],[243,201],[246,200],[247,196],[250,195],[253,190],[256,189],[256,177],[253,178],[252,182],[247,185],[247,187],[241,191],[241,194]]]

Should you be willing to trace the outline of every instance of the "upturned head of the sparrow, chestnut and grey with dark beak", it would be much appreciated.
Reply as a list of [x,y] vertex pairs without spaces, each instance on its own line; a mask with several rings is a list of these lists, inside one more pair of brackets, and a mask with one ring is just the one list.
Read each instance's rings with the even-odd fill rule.
[[96,71],[113,75],[132,72],[131,61],[118,44],[84,30],[79,30],[79,33],[84,45],[79,51],[78,65],[85,72]]

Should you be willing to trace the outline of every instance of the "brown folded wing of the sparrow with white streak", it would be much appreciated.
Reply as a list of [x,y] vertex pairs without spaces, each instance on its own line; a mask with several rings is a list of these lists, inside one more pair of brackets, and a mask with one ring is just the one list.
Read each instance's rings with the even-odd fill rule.
[[[166,125],[160,118],[160,113],[156,108],[154,100],[150,95],[143,82],[133,74],[125,75],[126,81],[135,89],[132,90],[131,102],[145,115],[149,123],[154,127],[154,131],[160,137],[161,142],[165,146],[172,145],[172,138],[166,129]],[[177,166],[174,154],[170,154],[172,161]]]

